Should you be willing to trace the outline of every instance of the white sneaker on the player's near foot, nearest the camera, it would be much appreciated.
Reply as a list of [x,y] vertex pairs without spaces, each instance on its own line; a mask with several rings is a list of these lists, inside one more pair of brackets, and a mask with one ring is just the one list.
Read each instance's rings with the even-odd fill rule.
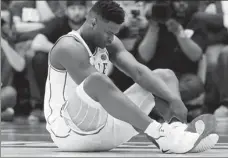
[[163,123],[159,129],[159,137],[154,140],[163,153],[186,153],[194,147],[200,135],[185,129],[186,127]]

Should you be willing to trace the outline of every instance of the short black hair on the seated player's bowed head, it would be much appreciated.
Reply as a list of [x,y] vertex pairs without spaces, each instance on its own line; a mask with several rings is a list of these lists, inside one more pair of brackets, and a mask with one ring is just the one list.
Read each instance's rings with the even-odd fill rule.
[[125,12],[120,4],[113,0],[99,0],[93,5],[90,12],[91,11],[100,15],[105,20],[117,24],[122,24],[124,22]]

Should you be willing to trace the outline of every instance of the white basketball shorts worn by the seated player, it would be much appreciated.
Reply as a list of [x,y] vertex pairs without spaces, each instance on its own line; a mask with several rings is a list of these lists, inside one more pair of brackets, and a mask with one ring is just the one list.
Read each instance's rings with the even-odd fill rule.
[[[94,76],[90,77],[93,78]],[[72,92],[72,97],[68,98],[62,108],[62,116],[74,132],[71,132],[69,138],[67,137],[64,140],[54,138],[55,143],[61,150],[107,151],[127,142],[138,134],[133,126],[127,122],[116,119],[111,115],[108,115],[106,119],[107,112],[102,110],[102,106],[85,93],[84,84],[85,82],[82,82],[76,91]],[[105,85],[104,82],[103,85]],[[153,95],[136,84],[129,88],[125,95],[133,101],[135,106],[142,105],[140,108],[146,116],[155,105]],[[96,111],[99,112],[97,113]],[[96,117],[95,113],[99,114],[99,116]],[[134,118],[137,119],[137,116],[134,116]],[[98,123],[104,125],[101,130],[97,130]]]

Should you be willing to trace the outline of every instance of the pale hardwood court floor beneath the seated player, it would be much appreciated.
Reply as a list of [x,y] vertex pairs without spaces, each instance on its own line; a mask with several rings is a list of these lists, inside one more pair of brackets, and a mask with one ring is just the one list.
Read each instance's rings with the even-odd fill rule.
[[144,135],[109,152],[61,152],[52,143],[45,124],[1,123],[1,157],[228,157],[228,118],[218,119],[219,143],[203,153],[162,154]]

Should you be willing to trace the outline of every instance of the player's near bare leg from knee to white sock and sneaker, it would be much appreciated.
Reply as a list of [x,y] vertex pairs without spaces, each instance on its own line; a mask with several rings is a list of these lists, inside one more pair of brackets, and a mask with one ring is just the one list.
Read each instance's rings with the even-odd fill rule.
[[[85,93],[93,100],[99,102],[110,115],[131,124],[155,138],[161,149],[170,149],[170,151],[175,153],[187,152],[189,148],[194,147],[194,142],[199,138],[197,132],[183,132],[184,130],[180,128],[175,129],[168,124],[161,126],[156,121],[151,120],[137,105],[124,95],[107,76],[94,73],[86,78],[83,84]],[[159,131],[169,131],[163,134],[171,134],[172,136],[170,135],[169,139],[166,139],[168,137],[165,135],[161,136],[160,133],[158,134],[158,128],[161,129]],[[186,140],[185,143],[183,143],[183,141],[176,139]],[[178,143],[168,145],[167,142]],[[176,146],[181,146],[181,148],[176,148]]]

